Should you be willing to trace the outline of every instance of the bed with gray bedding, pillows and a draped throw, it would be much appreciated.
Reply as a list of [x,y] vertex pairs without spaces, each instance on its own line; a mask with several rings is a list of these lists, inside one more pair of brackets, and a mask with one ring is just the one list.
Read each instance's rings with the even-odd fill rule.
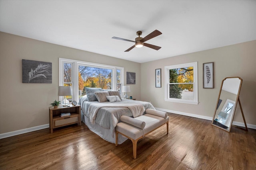
[[[108,95],[108,92],[110,97],[104,96]],[[116,143],[114,129],[122,115],[136,117],[144,114],[146,109],[155,109],[149,102],[123,99],[118,91],[106,92],[100,88],[86,88],[86,94],[78,102],[81,105],[81,119],[91,131],[110,143]],[[111,98],[118,101],[112,102]],[[126,140],[126,137],[118,136],[118,144]]]

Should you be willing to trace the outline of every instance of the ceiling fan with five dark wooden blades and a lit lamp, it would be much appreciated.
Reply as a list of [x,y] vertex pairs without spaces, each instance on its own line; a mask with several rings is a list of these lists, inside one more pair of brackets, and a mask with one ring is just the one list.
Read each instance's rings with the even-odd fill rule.
[[152,39],[158,35],[161,35],[162,33],[158,30],[153,31],[152,33],[148,34],[146,37],[142,38],[140,37],[140,35],[142,35],[142,31],[137,31],[137,35],[139,37],[135,38],[135,41],[129,40],[129,39],[123,39],[123,38],[118,38],[118,37],[112,37],[112,39],[119,39],[119,40],[123,40],[123,41],[130,41],[135,43],[135,45],[133,45],[132,47],[130,47],[129,49],[127,49],[124,52],[130,51],[131,49],[133,49],[134,47],[140,48],[143,46],[155,49],[155,50],[159,50],[161,47],[158,47],[156,45],[152,45],[152,44],[148,44],[148,43],[144,43],[145,41],[148,41],[149,39]]

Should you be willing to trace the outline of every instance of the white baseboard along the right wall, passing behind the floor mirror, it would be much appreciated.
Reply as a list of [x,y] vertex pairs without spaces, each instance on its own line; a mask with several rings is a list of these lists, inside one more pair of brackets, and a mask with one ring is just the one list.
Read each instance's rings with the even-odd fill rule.
[[[208,117],[208,116],[195,115],[195,114],[191,114],[191,113],[185,113],[185,112],[181,112],[181,111],[174,111],[174,110],[161,109],[161,108],[156,108],[156,109],[160,110],[160,111],[165,111],[165,112],[169,112],[169,113],[178,114],[178,115],[196,117],[196,118],[206,119],[206,120],[212,121],[212,117]],[[246,123],[246,124],[247,124],[248,128],[256,129],[256,125],[252,125],[252,124],[248,124],[248,123]],[[236,126],[240,126],[240,127],[245,127],[244,122],[233,121],[232,125],[236,125]]]

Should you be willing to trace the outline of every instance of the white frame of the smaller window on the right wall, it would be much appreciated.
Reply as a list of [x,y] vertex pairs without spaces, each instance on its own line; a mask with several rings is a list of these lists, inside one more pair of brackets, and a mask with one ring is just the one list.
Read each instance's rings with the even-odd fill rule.
[[[194,98],[193,100],[186,100],[186,99],[175,99],[175,98],[170,98],[169,96],[169,84],[170,84],[170,71],[171,69],[176,69],[176,68],[184,68],[184,67],[193,67],[193,75],[194,75],[194,83],[193,83],[193,93],[194,93]],[[197,62],[193,63],[184,63],[184,64],[176,64],[176,65],[171,65],[171,66],[164,66],[164,93],[165,97],[164,100],[166,102],[177,102],[177,103],[185,103],[185,104],[198,104],[198,75],[197,75]]]

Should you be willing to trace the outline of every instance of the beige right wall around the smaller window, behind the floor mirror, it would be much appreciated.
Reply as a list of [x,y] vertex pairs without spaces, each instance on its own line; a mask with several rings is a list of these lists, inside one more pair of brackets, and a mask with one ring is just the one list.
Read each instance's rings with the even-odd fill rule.
[[[170,48],[171,50],[171,48]],[[164,101],[164,66],[198,62],[198,105]],[[204,89],[203,63],[214,62],[214,88]],[[243,79],[240,100],[246,123],[256,125],[256,41],[170,57],[141,64],[141,99],[157,108],[213,117],[221,82],[225,77]],[[162,88],[155,88],[155,69],[162,68]],[[243,122],[238,105],[234,121]]]

